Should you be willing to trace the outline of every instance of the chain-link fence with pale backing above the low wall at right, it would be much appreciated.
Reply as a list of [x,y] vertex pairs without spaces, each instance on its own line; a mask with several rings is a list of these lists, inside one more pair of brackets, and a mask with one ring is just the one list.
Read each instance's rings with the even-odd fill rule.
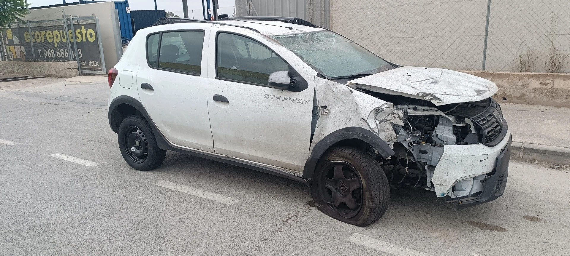
[[568,0],[332,0],[331,28],[402,65],[570,72]]

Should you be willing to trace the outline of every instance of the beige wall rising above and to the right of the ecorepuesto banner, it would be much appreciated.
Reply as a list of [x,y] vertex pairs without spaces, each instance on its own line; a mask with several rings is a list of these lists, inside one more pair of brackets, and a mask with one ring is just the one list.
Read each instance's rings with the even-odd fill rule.
[[[30,13],[23,17],[23,20],[47,20],[62,19],[62,9],[66,15],[97,16],[99,17],[99,29],[103,42],[103,55],[105,58],[105,68],[112,68],[119,62],[123,55],[121,38],[119,31],[119,20],[115,16],[114,2],[86,3],[83,5],[71,5],[62,7],[51,7],[45,9],[30,10]],[[63,21],[62,21],[63,22]],[[115,35],[119,35],[117,38]]]

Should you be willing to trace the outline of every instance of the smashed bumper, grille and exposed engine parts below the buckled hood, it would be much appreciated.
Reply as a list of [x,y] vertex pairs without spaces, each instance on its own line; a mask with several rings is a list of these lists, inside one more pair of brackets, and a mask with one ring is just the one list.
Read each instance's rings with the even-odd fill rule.
[[396,106],[404,125],[393,125],[400,143],[394,144],[391,184],[423,183],[455,209],[502,196],[511,135],[496,101],[429,105]]

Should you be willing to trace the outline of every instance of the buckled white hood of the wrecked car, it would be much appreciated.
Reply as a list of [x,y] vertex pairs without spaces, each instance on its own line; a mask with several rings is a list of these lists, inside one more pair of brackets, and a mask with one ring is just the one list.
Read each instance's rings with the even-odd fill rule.
[[481,77],[441,68],[400,67],[348,81],[348,86],[445,105],[481,101],[497,86]]

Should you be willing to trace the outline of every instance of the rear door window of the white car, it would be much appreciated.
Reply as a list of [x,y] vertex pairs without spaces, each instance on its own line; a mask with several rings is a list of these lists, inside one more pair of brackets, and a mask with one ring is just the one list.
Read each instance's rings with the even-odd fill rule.
[[158,68],[200,75],[203,31],[162,33]]

